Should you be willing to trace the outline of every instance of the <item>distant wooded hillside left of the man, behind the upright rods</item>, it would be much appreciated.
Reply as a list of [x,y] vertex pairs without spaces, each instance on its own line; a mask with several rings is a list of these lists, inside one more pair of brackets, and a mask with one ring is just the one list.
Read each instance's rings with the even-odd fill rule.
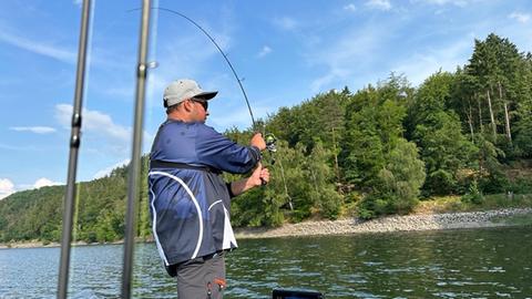
[[[91,243],[123,238],[126,175],[127,167],[123,166],[113,169],[106,177],[78,184],[74,240]],[[0,243],[59,241],[64,194],[64,185],[50,186],[18,192],[0,200]],[[140,223],[140,236],[145,236],[149,234],[145,205],[140,208],[140,219],[144,221]]]

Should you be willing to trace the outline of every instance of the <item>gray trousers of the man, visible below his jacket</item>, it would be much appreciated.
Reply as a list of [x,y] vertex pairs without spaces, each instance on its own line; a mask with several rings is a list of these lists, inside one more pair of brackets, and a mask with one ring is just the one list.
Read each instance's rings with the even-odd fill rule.
[[225,287],[223,251],[177,265],[180,299],[221,299]]

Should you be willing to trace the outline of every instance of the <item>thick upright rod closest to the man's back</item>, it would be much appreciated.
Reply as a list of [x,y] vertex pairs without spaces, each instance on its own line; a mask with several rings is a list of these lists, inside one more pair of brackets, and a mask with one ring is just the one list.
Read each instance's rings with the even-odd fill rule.
[[144,96],[147,76],[147,44],[150,32],[151,0],[142,1],[142,21],[139,42],[139,65],[136,70],[135,116],[133,125],[133,148],[127,178],[127,210],[125,215],[124,262],[122,271],[122,298],[131,298],[133,270],[133,247],[136,231],[136,202],[141,173],[142,127],[144,121]]

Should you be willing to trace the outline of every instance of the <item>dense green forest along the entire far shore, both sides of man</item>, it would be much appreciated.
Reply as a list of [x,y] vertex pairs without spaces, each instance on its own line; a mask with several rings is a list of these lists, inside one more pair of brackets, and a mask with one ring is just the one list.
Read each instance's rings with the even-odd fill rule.
[[[264,156],[273,179],[233,202],[235,226],[368,219],[407,214],[434,196],[479,203],[485,194],[532,193],[530,181],[505,172],[532,158],[532,55],[495,34],[474,41],[466,65],[416,89],[391,74],[355,93],[345,87],[282,107],[260,123],[278,138],[277,153]],[[252,133],[226,132],[244,144]],[[80,184],[75,239],[123,237],[126,173],[120,167]],[[0,241],[59,240],[63,194],[64,187],[44,187],[1,200]],[[151,234],[146,198],[144,185],[143,238]]]

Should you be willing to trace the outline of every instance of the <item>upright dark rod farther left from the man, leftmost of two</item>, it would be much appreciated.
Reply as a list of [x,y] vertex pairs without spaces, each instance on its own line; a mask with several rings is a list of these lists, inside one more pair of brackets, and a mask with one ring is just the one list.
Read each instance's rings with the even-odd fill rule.
[[70,249],[72,241],[72,223],[75,206],[75,174],[78,168],[78,152],[81,142],[81,112],[83,104],[83,87],[85,80],[86,45],[89,41],[91,0],[83,0],[81,17],[80,44],[78,49],[78,71],[75,74],[74,106],[72,111],[72,130],[70,135],[69,169],[66,192],[63,204],[63,229],[61,240],[61,261],[59,266],[58,298],[66,298],[69,290]]

